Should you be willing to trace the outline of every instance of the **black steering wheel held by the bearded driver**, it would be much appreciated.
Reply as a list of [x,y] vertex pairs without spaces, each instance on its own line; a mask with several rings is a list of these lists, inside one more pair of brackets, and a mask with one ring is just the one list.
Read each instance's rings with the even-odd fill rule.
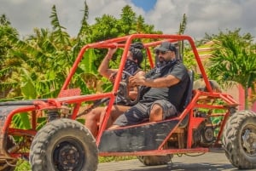
[[137,102],[139,101],[140,99],[140,87],[137,86],[137,97],[132,100],[131,97],[129,96],[129,93],[130,93],[130,88],[129,88],[129,77],[131,77],[131,74],[127,71],[123,71],[123,75],[122,77],[125,77],[125,78],[122,78],[121,82],[119,83],[119,90],[118,90],[118,99],[119,99],[119,102],[123,102],[125,103],[125,105],[135,105],[137,104]]

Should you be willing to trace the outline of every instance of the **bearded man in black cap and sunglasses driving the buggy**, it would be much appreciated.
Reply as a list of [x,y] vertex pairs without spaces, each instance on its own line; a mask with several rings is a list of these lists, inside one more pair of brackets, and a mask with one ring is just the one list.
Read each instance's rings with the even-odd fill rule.
[[183,94],[189,83],[189,74],[183,63],[176,59],[177,50],[172,43],[164,42],[155,48],[158,63],[145,76],[130,77],[131,86],[142,86],[143,98],[113,123],[113,128],[157,122],[177,115]]

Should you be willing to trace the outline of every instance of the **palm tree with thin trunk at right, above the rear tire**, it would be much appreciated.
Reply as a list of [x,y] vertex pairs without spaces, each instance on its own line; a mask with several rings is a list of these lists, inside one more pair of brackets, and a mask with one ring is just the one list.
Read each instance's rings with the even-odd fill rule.
[[[248,89],[256,82],[256,54],[250,34],[239,36],[240,29],[220,33],[213,40],[212,57],[207,64],[211,77],[221,83],[240,83],[245,90],[245,108],[248,109]],[[231,84],[230,84],[231,85]]]

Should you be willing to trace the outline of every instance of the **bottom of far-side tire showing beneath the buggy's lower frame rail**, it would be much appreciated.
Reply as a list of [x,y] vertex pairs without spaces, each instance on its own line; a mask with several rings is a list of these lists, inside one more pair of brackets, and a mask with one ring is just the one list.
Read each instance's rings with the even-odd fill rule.
[[138,156],[140,162],[143,162],[145,166],[156,166],[167,164],[171,161],[172,155],[166,156]]

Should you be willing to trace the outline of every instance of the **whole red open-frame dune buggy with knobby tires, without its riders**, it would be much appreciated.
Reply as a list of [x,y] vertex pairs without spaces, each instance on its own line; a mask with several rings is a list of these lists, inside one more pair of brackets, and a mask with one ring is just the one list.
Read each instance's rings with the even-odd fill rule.
[[[152,50],[161,42],[189,43],[197,62],[196,72],[201,73],[207,91],[193,88],[196,73],[189,71],[183,110],[177,117],[108,130],[115,98],[121,95],[131,101],[120,87],[127,86],[121,78],[129,47],[135,41],[143,43],[151,68],[154,67]],[[87,50],[116,46],[123,48],[123,54],[111,91],[81,94],[80,88],[70,85]],[[78,121],[80,108],[86,104],[96,107],[96,102],[106,99],[108,107],[95,139]],[[99,156],[137,156],[145,165],[157,165],[170,162],[176,154],[203,154],[216,149],[224,149],[236,168],[256,168],[256,114],[237,111],[237,105],[230,94],[212,91],[189,36],[133,34],[90,43],[80,50],[58,97],[0,103],[0,170],[15,169],[18,158],[29,160],[34,171],[95,171]],[[12,123],[17,115],[28,116],[30,128],[16,128]]]

